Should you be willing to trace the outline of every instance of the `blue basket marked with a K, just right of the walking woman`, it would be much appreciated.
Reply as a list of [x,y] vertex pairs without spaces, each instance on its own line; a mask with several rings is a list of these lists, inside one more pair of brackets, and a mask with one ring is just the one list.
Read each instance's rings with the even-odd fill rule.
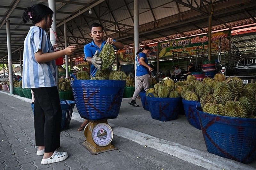
[[[151,94],[151,93],[149,93]],[[153,94],[151,94],[153,96]],[[159,121],[170,121],[178,118],[180,98],[148,97],[151,117]]]

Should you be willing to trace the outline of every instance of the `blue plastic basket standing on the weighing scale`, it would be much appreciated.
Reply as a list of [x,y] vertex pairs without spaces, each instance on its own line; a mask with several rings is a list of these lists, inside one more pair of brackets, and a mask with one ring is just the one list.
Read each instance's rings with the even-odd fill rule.
[[116,118],[122,103],[123,80],[75,80],[70,81],[76,108],[81,117],[89,120]]

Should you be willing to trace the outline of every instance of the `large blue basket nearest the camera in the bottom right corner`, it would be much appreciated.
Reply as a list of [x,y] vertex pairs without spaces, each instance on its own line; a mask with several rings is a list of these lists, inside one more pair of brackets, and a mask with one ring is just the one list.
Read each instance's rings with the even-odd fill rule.
[[244,164],[255,160],[256,119],[212,115],[196,108],[207,151]]

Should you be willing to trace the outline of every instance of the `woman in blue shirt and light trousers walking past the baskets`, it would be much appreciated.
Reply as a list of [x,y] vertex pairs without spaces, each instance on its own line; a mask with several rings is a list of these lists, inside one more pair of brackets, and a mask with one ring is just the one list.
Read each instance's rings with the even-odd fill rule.
[[135,81],[137,81],[137,87],[135,89],[135,92],[132,96],[132,101],[129,102],[130,105],[134,107],[139,107],[139,105],[135,102],[139,92],[141,91],[142,87],[144,90],[149,88],[149,72],[153,71],[153,69],[148,64],[148,58],[147,54],[150,50],[150,47],[144,46],[143,48],[140,48],[137,52],[136,56],[136,76]]

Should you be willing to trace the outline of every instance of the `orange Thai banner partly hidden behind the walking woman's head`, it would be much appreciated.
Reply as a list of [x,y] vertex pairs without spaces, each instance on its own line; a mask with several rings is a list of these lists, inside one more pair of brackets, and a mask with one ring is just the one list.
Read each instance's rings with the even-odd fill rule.
[[[148,45],[150,51],[147,54],[148,60],[156,59],[157,56],[157,43]],[[140,48],[143,48],[141,46]],[[134,62],[134,48],[126,48],[117,51],[117,56],[120,62]]]

